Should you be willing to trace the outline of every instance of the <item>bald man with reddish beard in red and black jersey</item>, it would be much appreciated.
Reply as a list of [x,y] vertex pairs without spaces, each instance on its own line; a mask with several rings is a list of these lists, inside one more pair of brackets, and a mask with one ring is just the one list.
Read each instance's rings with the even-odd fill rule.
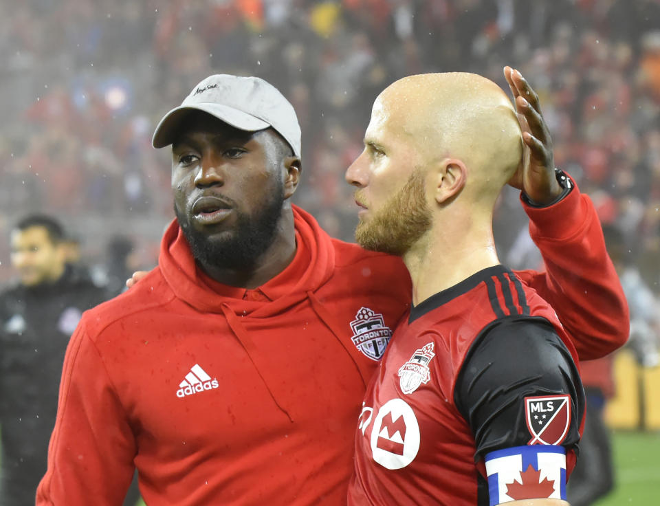
[[346,173],[355,238],[401,256],[412,307],[364,397],[349,505],[567,504],[577,353],[492,233],[522,138],[506,94],[474,74],[410,76],[375,100]]

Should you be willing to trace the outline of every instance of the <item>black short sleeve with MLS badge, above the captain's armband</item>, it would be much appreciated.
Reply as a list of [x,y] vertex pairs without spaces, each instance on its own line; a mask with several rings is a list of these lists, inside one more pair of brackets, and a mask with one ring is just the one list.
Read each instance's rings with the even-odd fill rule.
[[[584,391],[571,353],[550,322],[515,316],[483,329],[454,388],[456,406],[474,434],[475,461],[494,450],[527,445],[533,434],[525,397],[552,395],[569,395],[569,428],[560,444],[573,448],[580,439]],[[542,423],[542,414],[536,415]]]

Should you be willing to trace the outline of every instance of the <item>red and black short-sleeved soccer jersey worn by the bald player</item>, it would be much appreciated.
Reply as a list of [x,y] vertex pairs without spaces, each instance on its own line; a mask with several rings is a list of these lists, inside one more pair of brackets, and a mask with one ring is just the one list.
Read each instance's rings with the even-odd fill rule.
[[[485,454],[541,443],[571,450],[579,439],[574,360],[554,311],[505,267],[412,308],[367,388],[349,505],[487,505]],[[538,403],[527,408],[525,397],[563,410],[544,427],[531,413]],[[552,485],[544,497],[560,496]]]

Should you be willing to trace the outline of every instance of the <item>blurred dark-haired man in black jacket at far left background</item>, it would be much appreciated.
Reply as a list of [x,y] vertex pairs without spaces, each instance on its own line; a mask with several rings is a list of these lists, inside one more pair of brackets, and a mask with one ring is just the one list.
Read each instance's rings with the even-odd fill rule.
[[11,232],[19,281],[0,294],[1,506],[34,505],[69,337],[83,311],[109,298],[67,263],[65,239],[61,224],[42,215]]

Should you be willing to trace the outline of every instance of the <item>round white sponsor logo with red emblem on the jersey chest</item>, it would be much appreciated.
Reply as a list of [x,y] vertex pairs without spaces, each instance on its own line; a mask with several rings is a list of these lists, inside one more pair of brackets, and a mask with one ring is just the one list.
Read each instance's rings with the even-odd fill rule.
[[419,424],[415,412],[403,399],[387,401],[373,421],[373,460],[387,469],[401,469],[415,460],[418,451]]

